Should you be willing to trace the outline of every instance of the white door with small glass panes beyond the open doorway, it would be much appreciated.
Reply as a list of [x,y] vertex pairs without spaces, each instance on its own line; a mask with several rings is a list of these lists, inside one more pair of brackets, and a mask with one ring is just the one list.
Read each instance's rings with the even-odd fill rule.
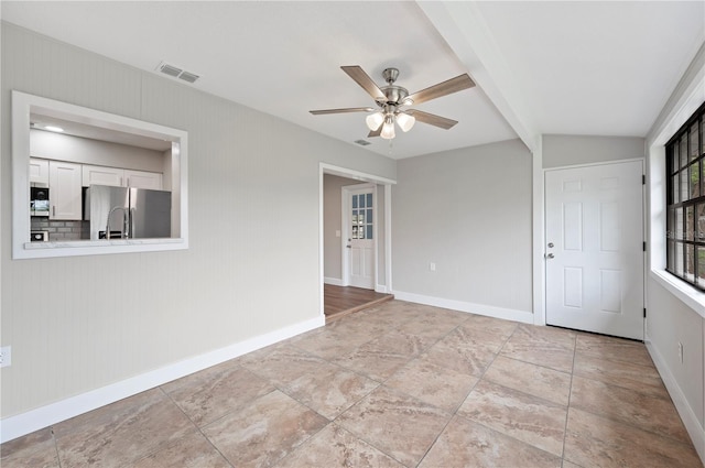
[[[347,284],[375,289],[375,187],[344,187],[347,203],[345,251]],[[345,283],[345,282],[344,282]]]

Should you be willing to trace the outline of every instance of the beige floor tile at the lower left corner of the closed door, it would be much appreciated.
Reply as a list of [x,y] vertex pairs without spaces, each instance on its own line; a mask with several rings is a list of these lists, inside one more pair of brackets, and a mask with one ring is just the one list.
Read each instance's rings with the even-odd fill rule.
[[551,327],[520,325],[500,352],[508,358],[544,366],[561,372],[573,371],[575,334]]

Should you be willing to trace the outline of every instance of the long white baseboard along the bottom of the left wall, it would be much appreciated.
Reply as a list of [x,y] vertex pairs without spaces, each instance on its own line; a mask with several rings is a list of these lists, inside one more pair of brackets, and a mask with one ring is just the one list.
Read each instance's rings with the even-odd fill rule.
[[325,325],[325,317],[312,318],[236,342],[215,351],[185,359],[120,382],[91,390],[56,403],[47,404],[0,421],[0,443],[12,440],[34,431],[51,426],[100,406],[113,403],[145,390],[162,385],[199,370],[219,364],[238,356],[256,351],[286,338]]

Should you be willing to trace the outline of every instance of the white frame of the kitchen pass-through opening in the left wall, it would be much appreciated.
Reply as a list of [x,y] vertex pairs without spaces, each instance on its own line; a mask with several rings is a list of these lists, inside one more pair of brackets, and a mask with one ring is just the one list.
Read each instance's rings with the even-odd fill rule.
[[[31,211],[30,211],[30,184],[36,176],[37,164],[32,164],[31,126],[34,119],[50,121],[57,119],[67,124],[82,128],[87,132],[84,137],[96,141],[116,142],[115,140],[128,139],[145,144],[147,140],[159,142],[160,149],[166,150],[163,154],[163,188],[171,193],[171,237],[140,238],[118,240],[68,240],[48,242],[31,242]],[[40,132],[42,133],[42,132]],[[48,132],[44,132],[48,134]],[[78,133],[76,133],[78,134]],[[172,129],[151,122],[144,122],[123,116],[102,112],[67,102],[56,101],[39,96],[32,96],[17,90],[12,91],[12,258],[36,259],[50,257],[94,255],[106,253],[148,252],[163,250],[182,250],[188,248],[188,210],[187,210],[187,133],[183,130]],[[160,150],[161,151],[161,150]],[[52,196],[51,160],[46,163],[50,172],[50,198]],[[39,160],[34,160],[39,161]],[[84,162],[85,163],[85,162]],[[62,162],[64,164],[64,162]],[[83,181],[78,173],[83,172],[76,161],[64,164],[73,173],[70,183],[61,183],[59,194],[69,194],[63,198],[70,200],[74,208],[67,219],[82,218],[82,188]],[[110,164],[122,167],[120,163]],[[80,167],[80,171],[79,171]],[[86,166],[87,167],[87,166]],[[57,168],[57,166],[55,166]],[[127,170],[126,170],[127,171]],[[41,170],[40,170],[41,172]],[[135,173],[135,171],[131,171]],[[147,173],[140,173],[140,176]],[[66,179],[66,177],[65,177]],[[78,181],[78,184],[76,183]],[[131,184],[127,184],[131,185]],[[66,189],[69,187],[70,189]],[[54,191],[56,193],[56,191]],[[63,206],[63,205],[62,205]],[[76,208],[77,206],[77,208]],[[36,213],[36,209],[34,210]],[[58,218],[56,218],[58,219]],[[67,229],[67,228],[63,228]]]

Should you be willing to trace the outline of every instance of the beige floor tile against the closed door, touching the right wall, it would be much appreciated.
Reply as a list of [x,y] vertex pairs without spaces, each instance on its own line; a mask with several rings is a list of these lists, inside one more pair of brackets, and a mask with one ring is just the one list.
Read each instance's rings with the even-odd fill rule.
[[601,335],[578,334],[576,355],[586,355],[607,361],[629,362],[654,367],[647,347],[642,342]]

